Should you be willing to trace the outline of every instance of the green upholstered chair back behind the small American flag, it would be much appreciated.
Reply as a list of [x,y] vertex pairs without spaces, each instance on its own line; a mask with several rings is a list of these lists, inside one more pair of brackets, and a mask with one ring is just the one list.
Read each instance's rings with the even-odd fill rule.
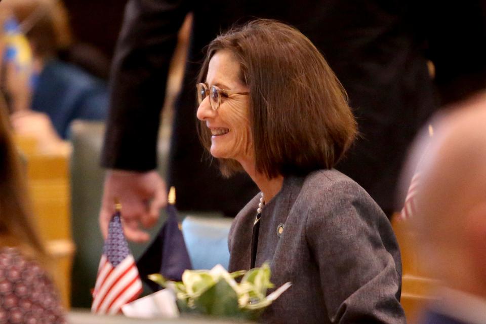
[[[91,307],[91,289],[95,285],[98,264],[103,252],[103,238],[98,225],[98,215],[103,192],[104,170],[99,166],[104,124],[93,121],[74,121],[70,129],[73,145],[71,156],[71,205],[72,234],[76,245],[71,280],[72,307]],[[160,141],[159,151],[167,156],[168,143]],[[167,163],[160,160],[161,174]],[[122,207],[123,208],[123,207]],[[122,210],[123,213],[123,210]],[[161,214],[159,224],[165,220]],[[158,226],[151,229],[154,235]],[[135,258],[146,245],[131,244]]]

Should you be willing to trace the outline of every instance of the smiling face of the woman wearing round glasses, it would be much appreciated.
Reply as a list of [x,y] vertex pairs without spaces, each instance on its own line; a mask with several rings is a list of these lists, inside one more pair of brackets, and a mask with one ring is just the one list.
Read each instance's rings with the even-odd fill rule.
[[[208,88],[216,86],[232,93],[249,92],[239,79],[240,67],[233,53],[227,50],[216,52],[211,58],[206,76]],[[248,95],[221,95],[221,103],[213,110],[210,97],[206,97],[197,108],[197,118],[206,121],[211,130],[211,154],[218,158],[231,158],[244,163],[253,160],[253,145],[250,131]]]

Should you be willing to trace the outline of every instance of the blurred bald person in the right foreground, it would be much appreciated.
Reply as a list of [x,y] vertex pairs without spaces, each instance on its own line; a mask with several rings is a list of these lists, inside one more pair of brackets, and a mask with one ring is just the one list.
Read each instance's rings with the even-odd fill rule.
[[441,280],[426,324],[486,322],[486,92],[455,108],[429,145],[416,195],[420,256]]

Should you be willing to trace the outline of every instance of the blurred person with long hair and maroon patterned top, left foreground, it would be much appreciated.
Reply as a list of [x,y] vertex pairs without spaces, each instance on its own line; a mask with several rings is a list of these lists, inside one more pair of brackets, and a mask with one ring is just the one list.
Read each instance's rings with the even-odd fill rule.
[[46,272],[49,258],[35,230],[25,165],[15,147],[0,96],[0,322],[65,323]]

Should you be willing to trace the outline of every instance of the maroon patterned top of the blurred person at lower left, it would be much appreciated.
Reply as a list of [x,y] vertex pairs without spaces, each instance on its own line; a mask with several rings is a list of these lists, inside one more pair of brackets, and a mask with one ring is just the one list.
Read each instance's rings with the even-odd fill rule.
[[66,323],[52,281],[15,248],[0,249],[0,324]]

